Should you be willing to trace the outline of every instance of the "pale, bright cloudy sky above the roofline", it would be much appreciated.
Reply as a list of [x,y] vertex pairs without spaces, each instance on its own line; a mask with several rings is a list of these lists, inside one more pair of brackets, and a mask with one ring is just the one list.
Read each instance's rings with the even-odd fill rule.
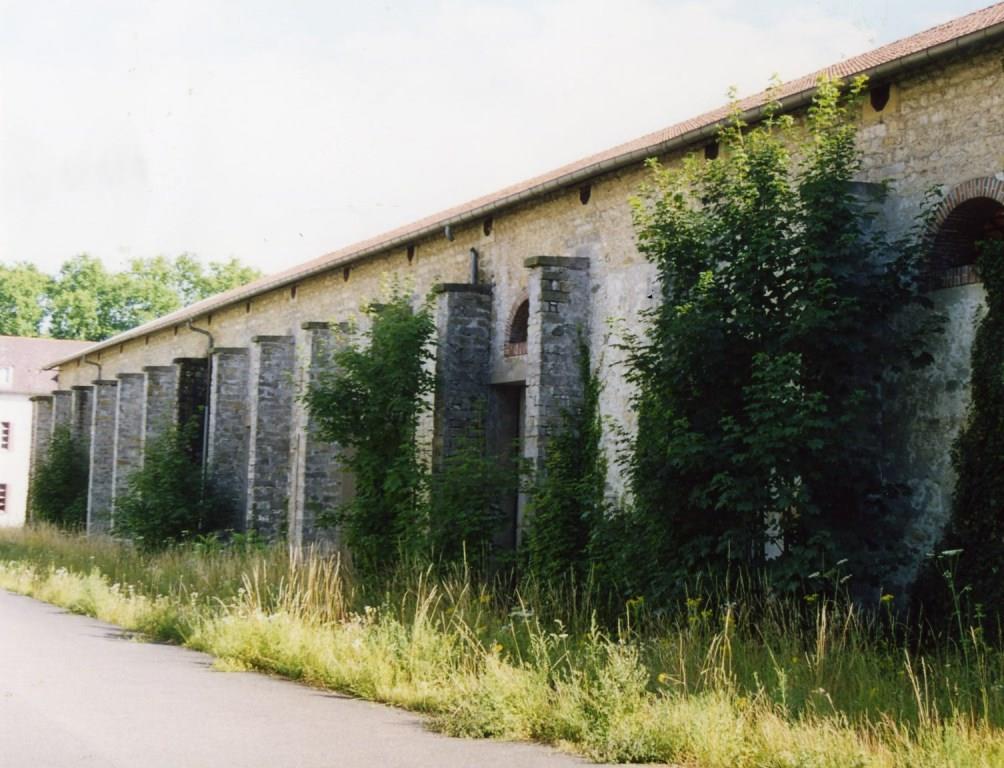
[[285,269],[989,0],[0,0],[0,262]]

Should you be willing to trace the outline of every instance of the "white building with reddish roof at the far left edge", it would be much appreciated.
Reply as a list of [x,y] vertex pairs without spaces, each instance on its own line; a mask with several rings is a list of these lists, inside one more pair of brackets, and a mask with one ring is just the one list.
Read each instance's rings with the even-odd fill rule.
[[0,336],[0,527],[23,525],[31,460],[31,398],[49,395],[55,371],[42,370],[88,341]]

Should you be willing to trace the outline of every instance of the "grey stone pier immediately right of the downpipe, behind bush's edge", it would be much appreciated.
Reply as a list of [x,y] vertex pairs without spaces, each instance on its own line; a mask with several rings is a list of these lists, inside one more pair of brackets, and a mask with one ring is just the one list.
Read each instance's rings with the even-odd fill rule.
[[218,347],[210,372],[207,468],[238,530],[244,529],[247,504],[249,362],[246,347]]

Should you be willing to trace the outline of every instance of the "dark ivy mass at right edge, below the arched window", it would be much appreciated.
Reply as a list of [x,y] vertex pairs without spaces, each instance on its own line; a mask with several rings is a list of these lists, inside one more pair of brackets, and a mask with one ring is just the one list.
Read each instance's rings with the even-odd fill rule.
[[[958,610],[993,629],[1001,639],[1004,605],[1004,242],[982,245],[978,267],[987,292],[972,351],[972,401],[952,449],[958,480],[952,518],[939,550],[959,557],[931,563],[920,586],[930,590],[946,568],[963,590],[941,604],[941,620]],[[926,599],[929,608],[938,601]],[[930,611],[929,611],[930,612]],[[951,622],[951,619],[949,619]]]

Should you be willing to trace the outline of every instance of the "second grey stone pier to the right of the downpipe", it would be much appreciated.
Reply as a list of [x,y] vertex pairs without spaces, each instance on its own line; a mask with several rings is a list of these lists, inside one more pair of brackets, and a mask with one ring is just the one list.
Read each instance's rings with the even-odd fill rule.
[[288,532],[295,347],[292,336],[251,341],[246,524],[274,538]]

